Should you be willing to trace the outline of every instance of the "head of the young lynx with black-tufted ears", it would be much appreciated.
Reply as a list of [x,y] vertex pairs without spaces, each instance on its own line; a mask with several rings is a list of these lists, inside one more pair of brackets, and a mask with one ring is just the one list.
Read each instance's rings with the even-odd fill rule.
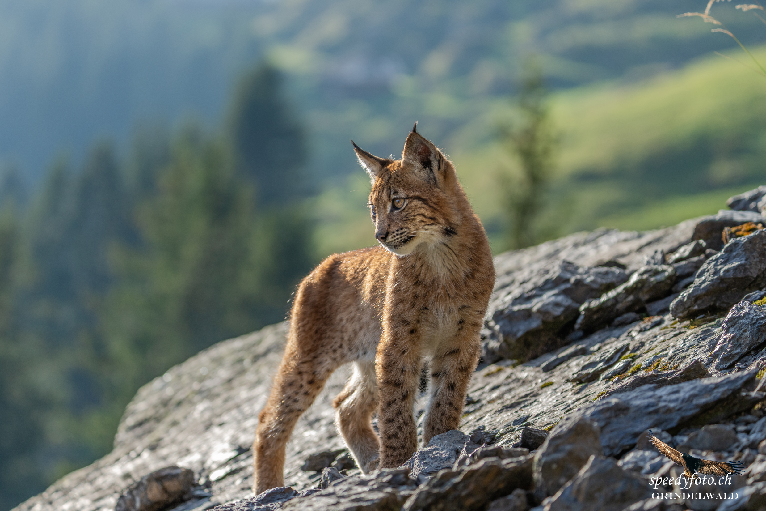
[[416,127],[398,160],[372,156],[354,144],[359,164],[372,179],[369,206],[375,239],[401,256],[455,236],[461,206],[467,206],[452,163]]

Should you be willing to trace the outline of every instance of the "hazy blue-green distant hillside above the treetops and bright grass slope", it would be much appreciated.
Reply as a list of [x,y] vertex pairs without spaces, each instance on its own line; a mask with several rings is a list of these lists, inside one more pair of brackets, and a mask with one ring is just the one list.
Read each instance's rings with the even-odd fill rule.
[[[270,57],[306,120],[309,179],[351,172],[345,145],[390,152],[414,120],[447,146],[513,93],[537,54],[548,84],[632,82],[731,47],[699,0],[6,0],[0,2],[0,162],[33,182],[94,139],[140,123],[219,123],[242,71]],[[760,22],[721,6],[745,44]],[[719,7],[716,7],[717,9]],[[494,136],[475,126],[460,150]],[[457,150],[453,149],[453,152]]]

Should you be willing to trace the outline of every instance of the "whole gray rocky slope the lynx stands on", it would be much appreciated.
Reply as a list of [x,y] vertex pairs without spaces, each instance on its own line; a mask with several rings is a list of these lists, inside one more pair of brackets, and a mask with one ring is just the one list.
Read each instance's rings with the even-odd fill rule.
[[[358,475],[330,406],[341,370],[288,446],[292,488],[253,498],[250,444],[280,359],[280,323],[145,385],[110,454],[16,509],[762,509],[764,192],[730,199],[741,211],[671,228],[578,233],[496,257],[462,432],[434,437],[404,467]],[[676,484],[674,495],[679,467],[648,444],[650,428],[746,471],[720,485]],[[189,470],[155,473],[169,466]],[[699,498],[712,488],[739,498]]]

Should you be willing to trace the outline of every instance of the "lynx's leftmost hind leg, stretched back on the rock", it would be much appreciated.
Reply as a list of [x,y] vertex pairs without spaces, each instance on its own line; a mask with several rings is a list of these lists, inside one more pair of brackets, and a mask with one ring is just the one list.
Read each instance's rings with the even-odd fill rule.
[[336,369],[321,362],[310,359],[308,354],[301,357],[298,350],[290,346],[285,352],[255,430],[253,491],[256,495],[284,486],[285,446],[293,427]]

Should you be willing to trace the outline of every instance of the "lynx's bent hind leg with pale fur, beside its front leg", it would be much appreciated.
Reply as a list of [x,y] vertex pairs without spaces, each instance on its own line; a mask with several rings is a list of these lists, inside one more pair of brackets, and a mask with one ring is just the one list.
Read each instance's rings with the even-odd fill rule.
[[343,391],[332,401],[336,424],[362,473],[378,468],[378,435],[372,429],[372,414],[378,408],[375,362],[356,362]]

